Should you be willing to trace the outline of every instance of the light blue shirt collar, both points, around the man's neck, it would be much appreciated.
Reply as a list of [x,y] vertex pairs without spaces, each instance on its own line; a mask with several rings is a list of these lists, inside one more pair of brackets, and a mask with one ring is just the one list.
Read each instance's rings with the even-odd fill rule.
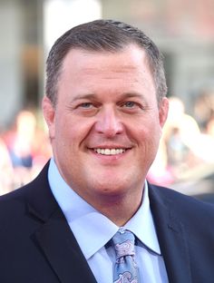
[[[63,210],[63,214],[73,230],[74,237],[77,239],[85,258],[91,258],[95,252],[102,249],[112,239],[119,227],[95,210],[63,181],[53,159],[50,161],[48,181],[53,196]],[[160,254],[151,216],[147,183],[144,186],[140,209],[126,223],[124,228],[130,229],[148,249]]]

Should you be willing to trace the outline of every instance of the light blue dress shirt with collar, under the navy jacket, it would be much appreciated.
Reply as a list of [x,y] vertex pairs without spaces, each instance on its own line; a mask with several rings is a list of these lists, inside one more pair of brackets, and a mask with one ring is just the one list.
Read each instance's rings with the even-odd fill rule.
[[[97,282],[112,283],[115,253],[106,244],[119,227],[92,208],[63,181],[53,159],[49,166],[48,181]],[[141,283],[167,283],[167,272],[151,215],[147,183],[141,207],[124,229],[131,230],[138,238],[135,249]]]

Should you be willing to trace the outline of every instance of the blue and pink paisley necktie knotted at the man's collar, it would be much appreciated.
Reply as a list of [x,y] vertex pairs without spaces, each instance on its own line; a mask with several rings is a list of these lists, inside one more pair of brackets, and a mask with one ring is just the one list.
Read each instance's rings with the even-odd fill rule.
[[140,283],[135,262],[134,235],[129,230],[119,229],[112,242],[116,252],[113,283]]

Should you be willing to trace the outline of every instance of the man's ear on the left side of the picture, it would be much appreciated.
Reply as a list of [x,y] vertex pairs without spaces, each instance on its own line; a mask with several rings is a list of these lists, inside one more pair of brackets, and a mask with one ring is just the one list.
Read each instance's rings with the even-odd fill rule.
[[47,96],[44,96],[44,99],[42,102],[42,108],[43,108],[43,113],[44,113],[44,120],[48,126],[49,137],[52,141],[55,135],[55,130],[54,130],[55,129],[55,125],[54,125],[55,109],[53,106],[53,102],[51,102]]

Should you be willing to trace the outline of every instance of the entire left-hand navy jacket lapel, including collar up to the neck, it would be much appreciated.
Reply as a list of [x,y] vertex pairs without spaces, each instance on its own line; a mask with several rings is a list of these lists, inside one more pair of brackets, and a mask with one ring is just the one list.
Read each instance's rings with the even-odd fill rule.
[[41,223],[33,239],[42,249],[43,256],[60,282],[95,283],[82,250],[53,198],[47,181],[47,170],[48,164],[28,190],[28,213]]

